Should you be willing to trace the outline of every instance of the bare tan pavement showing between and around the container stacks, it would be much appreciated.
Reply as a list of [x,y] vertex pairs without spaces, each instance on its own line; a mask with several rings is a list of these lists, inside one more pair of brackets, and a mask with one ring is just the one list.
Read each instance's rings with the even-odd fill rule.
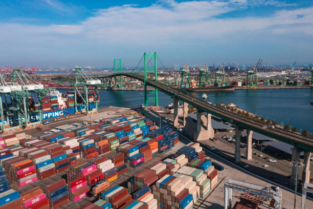
[[[117,112],[115,112],[115,111],[117,111]],[[93,115],[92,119],[95,120],[95,119],[105,118],[108,115],[108,113],[109,114],[123,114],[123,113],[130,112],[130,110],[124,109],[124,108],[108,107],[108,108],[101,109],[101,111],[99,111],[99,112],[101,112],[101,113],[99,113],[97,115]],[[148,117],[151,117],[151,119],[153,119],[155,122],[159,123],[160,119],[157,115],[152,115],[152,114],[147,113],[147,112],[145,112],[145,113],[147,114]],[[68,118],[68,119],[64,119],[64,120],[60,120],[60,121],[55,121],[55,122],[51,123],[50,126],[51,126],[51,128],[54,128],[57,126],[61,126],[62,124],[71,124],[74,122],[83,122],[83,121],[90,120],[90,119],[91,119],[90,116],[76,115],[74,118]],[[165,126],[165,124],[168,124],[167,121],[162,119],[162,126]],[[37,136],[37,135],[42,134],[42,132],[38,132],[36,130],[28,130],[26,132],[28,132],[28,134],[32,134],[33,136]],[[189,143],[189,141],[185,137],[180,135],[180,142],[178,144],[176,144],[173,149],[171,149],[170,151],[168,151],[166,153],[158,154],[157,156],[153,157],[153,159],[151,161],[145,163],[144,165],[140,166],[137,169],[127,168],[128,171],[126,173],[122,174],[121,176],[119,176],[119,178],[117,180],[115,180],[113,183],[111,183],[110,188],[115,186],[115,185],[122,185],[122,186],[127,187],[127,180],[129,178],[131,178],[133,175],[140,172],[141,170],[143,170],[144,168],[146,168],[150,164],[152,164],[158,160],[165,159],[166,157],[175,153],[177,151],[177,149],[181,148],[184,144],[187,144],[187,143]],[[234,144],[231,144],[228,142],[223,143],[221,140],[220,140],[220,142],[215,144],[216,147],[218,147],[218,144],[220,144],[220,147],[225,147],[226,150],[230,151],[229,156],[233,155],[232,154],[233,152],[231,150],[231,146],[234,146]],[[242,153],[244,153],[244,152],[242,152]],[[254,156],[254,158],[256,158],[256,160],[260,160],[255,156]],[[262,185],[262,186],[270,186],[269,183],[267,183],[263,180],[255,178],[254,176],[252,176],[252,175],[250,175],[244,171],[237,170],[232,164],[229,164],[225,160],[214,156],[212,153],[206,152],[206,159],[218,161],[218,163],[222,164],[225,167],[225,170],[219,172],[218,185],[215,187],[215,189],[213,189],[210,192],[210,194],[208,195],[208,197],[205,200],[199,201],[198,204],[195,205],[195,208],[223,208],[223,199],[224,199],[224,197],[223,197],[223,182],[227,181],[229,178],[239,180],[239,181],[249,182],[249,183],[253,183],[253,184],[257,184],[257,185]],[[50,184],[56,180],[64,178],[65,176],[66,176],[66,172],[61,172],[57,175],[54,175],[54,176],[49,177],[47,179],[44,179],[42,181],[36,181],[36,182],[34,182],[30,185],[26,185],[24,187],[18,187],[18,186],[12,185],[12,188],[16,189],[19,192],[25,192],[27,190],[30,190],[34,186],[40,186],[42,189],[44,189],[44,187],[47,184]],[[237,198],[238,195],[240,195],[239,192],[233,191],[233,204],[239,200]],[[63,205],[61,208],[78,208],[78,207],[82,206],[84,203],[94,201],[94,200],[95,200],[94,197],[87,197],[87,198],[84,198],[81,201],[78,201],[76,203],[69,202],[69,203]],[[283,190],[283,204],[282,204],[283,208],[293,208],[293,203],[294,203],[294,194],[290,193],[286,190]],[[300,208],[300,205],[301,205],[301,197],[297,196],[297,208]],[[310,208],[311,205],[313,205],[313,201],[306,200],[306,206],[307,206],[306,208]],[[260,208],[269,208],[268,202],[267,202],[267,204],[260,206]]]

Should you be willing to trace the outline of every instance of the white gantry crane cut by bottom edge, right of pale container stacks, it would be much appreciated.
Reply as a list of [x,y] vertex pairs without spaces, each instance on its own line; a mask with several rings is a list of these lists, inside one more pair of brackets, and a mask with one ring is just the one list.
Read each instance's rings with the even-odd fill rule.
[[[275,201],[274,208],[281,209],[282,203],[282,191],[278,186],[259,186],[251,183],[245,183],[229,179],[228,182],[224,182],[224,208],[232,208],[232,190],[238,190],[241,192],[250,193],[252,195],[258,195],[266,198],[273,199]],[[229,207],[228,207],[229,205]]]

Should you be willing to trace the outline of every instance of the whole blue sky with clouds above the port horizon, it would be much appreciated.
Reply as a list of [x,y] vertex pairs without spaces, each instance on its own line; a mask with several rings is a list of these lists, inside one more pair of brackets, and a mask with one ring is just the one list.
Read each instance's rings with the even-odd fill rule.
[[2,0],[0,14],[0,67],[313,62],[310,0]]

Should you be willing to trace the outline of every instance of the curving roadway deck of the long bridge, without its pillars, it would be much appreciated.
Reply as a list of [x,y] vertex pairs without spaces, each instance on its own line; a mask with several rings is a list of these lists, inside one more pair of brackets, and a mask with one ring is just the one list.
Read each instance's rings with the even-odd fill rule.
[[[144,80],[144,77],[141,74],[135,74],[135,73],[117,73],[116,74],[116,76],[121,76],[121,75],[139,79],[139,80]],[[104,78],[104,77],[113,77],[113,76],[114,75],[108,75],[108,76],[102,76],[102,77]],[[230,111],[218,108],[214,105],[209,104],[206,101],[203,101],[194,96],[188,95],[187,93],[181,90],[173,89],[169,86],[164,85],[163,83],[160,83],[152,79],[147,78],[147,84],[149,86],[158,88],[159,90],[163,91],[164,93],[170,96],[176,96],[178,99],[189,103],[189,105],[194,106],[200,111],[207,112],[217,117],[220,117],[224,120],[233,122],[241,128],[249,129],[257,133],[263,134],[265,136],[272,137],[279,141],[283,141],[288,144],[294,145],[302,150],[308,150],[308,151],[313,152],[313,140],[311,138],[308,138],[299,134],[295,134],[292,132],[284,131],[278,128],[275,128],[275,129],[267,128],[265,124],[242,117]]]

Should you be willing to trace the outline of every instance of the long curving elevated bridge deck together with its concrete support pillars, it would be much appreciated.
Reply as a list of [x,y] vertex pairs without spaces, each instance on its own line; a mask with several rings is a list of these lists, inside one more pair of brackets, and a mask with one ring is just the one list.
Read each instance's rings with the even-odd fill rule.
[[[114,76],[115,75],[107,75],[107,76],[100,76],[98,78],[108,78],[108,77],[114,77]],[[126,76],[129,78],[135,78],[135,79],[144,81],[144,75],[142,74],[117,73],[116,76]],[[303,182],[309,183],[310,156],[311,156],[311,152],[313,152],[313,139],[312,138],[302,136],[297,133],[285,131],[282,129],[278,129],[278,128],[274,128],[274,129],[269,128],[263,123],[257,122],[255,120],[251,120],[249,118],[245,118],[241,115],[230,112],[228,110],[218,108],[215,105],[211,105],[210,103],[204,100],[198,99],[192,95],[188,95],[187,92],[183,90],[173,89],[165,85],[164,83],[161,83],[161,82],[149,79],[149,78],[146,79],[146,85],[157,88],[158,90],[161,90],[162,92],[173,97],[174,126],[177,126],[178,124],[177,103],[179,100],[184,102],[184,107],[187,107],[187,104],[195,107],[197,109],[197,117],[199,118],[202,112],[206,112],[208,113],[208,120],[211,115],[214,115],[216,117],[222,118],[223,120],[234,123],[235,124],[235,137],[236,137],[235,161],[237,163],[240,162],[240,137],[241,137],[241,130],[243,129],[247,129],[247,135],[248,135],[247,151],[246,151],[247,159],[252,159],[252,133],[253,131],[294,146],[294,149],[292,151],[293,153],[292,154],[292,160],[293,160],[292,168],[293,169],[292,169],[292,175],[290,179],[292,184],[294,184],[295,179],[296,179],[296,171],[297,171],[297,166],[298,166],[298,160],[300,158],[300,152],[304,151],[304,164],[305,165],[304,165],[302,178],[303,178]],[[187,108],[184,108],[184,112],[185,111],[186,111],[186,114],[184,113],[184,121],[185,121],[185,116],[187,115]],[[200,131],[198,127],[202,126],[201,123],[202,121],[198,119],[197,131]]]

